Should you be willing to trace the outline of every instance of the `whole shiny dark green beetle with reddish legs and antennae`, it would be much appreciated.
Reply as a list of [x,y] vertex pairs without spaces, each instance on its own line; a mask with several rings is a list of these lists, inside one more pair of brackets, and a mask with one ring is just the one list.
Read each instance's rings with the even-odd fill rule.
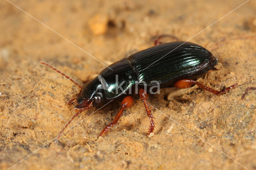
[[[138,93],[144,102],[146,113],[150,119],[148,128],[148,133],[150,133],[154,131],[155,125],[148,103],[148,94],[158,90],[156,87],[160,87],[160,89],[166,87],[188,88],[198,85],[201,89],[218,95],[237,85],[236,83],[226,89],[216,91],[195,81],[195,76],[212,69],[218,63],[218,59],[206,48],[191,42],[169,42],[134,53],[112,63],[84,86],[48,63],[40,63],[54,69],[80,87],[78,96],[67,103],[73,103],[79,111],[62,128],[58,138],[70,122],[84,110],[92,106],[104,105],[111,100],[122,100],[120,111],[112,123],[102,130],[100,136],[108,133],[117,124],[124,109],[132,106],[134,100],[132,94],[134,93]],[[118,77],[117,81],[116,77]],[[136,91],[136,87],[138,87],[138,91]]]

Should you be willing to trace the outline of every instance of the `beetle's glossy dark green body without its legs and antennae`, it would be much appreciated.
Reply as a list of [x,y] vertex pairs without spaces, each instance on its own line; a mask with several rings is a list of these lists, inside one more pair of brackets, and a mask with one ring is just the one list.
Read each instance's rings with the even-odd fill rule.
[[[169,53],[170,51],[172,52]],[[144,49],[112,63],[108,66],[112,70],[106,67],[98,77],[88,82],[77,97],[76,108],[84,107],[82,102],[85,99],[90,102],[95,97],[101,100],[98,102],[100,104],[108,103],[109,100],[126,93],[136,83],[150,87],[156,85],[151,83],[152,81],[158,81],[160,88],[173,87],[176,81],[206,73],[217,63],[218,59],[210,51],[191,42],[170,42]],[[118,82],[116,82],[116,76]],[[101,79],[106,80],[104,86],[110,88],[99,89],[102,86]],[[120,88],[124,89],[123,91],[110,92],[116,92],[116,88],[123,81],[126,82]],[[146,83],[140,83],[142,81]]]

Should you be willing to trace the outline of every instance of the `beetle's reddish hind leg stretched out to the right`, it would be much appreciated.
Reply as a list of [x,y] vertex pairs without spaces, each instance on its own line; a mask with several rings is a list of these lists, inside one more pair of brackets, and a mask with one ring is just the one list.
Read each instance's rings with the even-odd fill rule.
[[191,80],[191,79],[184,79],[184,80],[179,80],[176,83],[174,83],[174,87],[179,88],[179,89],[185,89],[185,88],[191,87],[193,84],[196,84],[201,89],[205,89],[205,90],[210,91],[210,92],[212,92],[212,93],[214,93],[216,95],[223,94],[226,91],[228,91],[230,89],[233,89],[237,85],[237,83],[236,83],[236,84],[234,84],[234,85],[232,85],[232,86],[230,86],[230,87],[228,87],[226,89],[223,89],[221,91],[217,91],[217,90],[211,89],[210,87],[202,85],[201,83],[198,83],[197,81],[194,81],[194,80]]

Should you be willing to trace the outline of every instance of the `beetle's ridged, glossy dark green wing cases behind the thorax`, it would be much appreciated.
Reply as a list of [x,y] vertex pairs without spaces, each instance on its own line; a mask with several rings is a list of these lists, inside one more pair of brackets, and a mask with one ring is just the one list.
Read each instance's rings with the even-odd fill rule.
[[[204,47],[190,42],[170,42],[134,53],[129,61],[140,81],[168,83],[205,73],[218,59]],[[153,63],[153,64],[152,64]]]

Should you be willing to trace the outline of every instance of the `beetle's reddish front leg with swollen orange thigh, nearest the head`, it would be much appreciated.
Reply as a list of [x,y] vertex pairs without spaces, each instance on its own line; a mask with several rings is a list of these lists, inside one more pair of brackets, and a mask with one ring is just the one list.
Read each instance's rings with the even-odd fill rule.
[[125,108],[129,108],[132,106],[133,103],[133,98],[132,96],[127,96],[124,98],[124,100],[122,101],[121,104],[121,109],[120,111],[116,114],[116,117],[114,118],[114,120],[112,121],[112,123],[110,123],[108,126],[106,126],[102,132],[100,133],[100,136],[102,136],[103,134],[108,133],[108,130],[110,130],[114,125],[117,124],[118,119],[121,117],[123,111]]

